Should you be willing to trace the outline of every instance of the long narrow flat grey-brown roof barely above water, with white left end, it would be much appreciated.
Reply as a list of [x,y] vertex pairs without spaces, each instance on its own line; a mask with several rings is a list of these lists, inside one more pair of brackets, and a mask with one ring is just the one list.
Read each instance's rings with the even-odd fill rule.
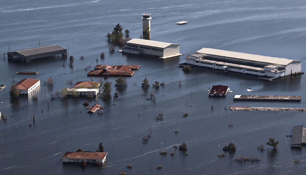
[[282,101],[301,101],[302,96],[288,95],[234,95],[234,100],[282,100]]

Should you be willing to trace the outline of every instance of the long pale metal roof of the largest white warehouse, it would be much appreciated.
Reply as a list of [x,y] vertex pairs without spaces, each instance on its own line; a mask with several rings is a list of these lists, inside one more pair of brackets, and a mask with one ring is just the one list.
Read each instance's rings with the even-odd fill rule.
[[[196,53],[225,56],[225,57],[230,57],[230,58],[244,59],[244,60],[249,60],[249,61],[258,61],[258,62],[264,62],[264,63],[270,63],[270,64],[278,64],[278,65],[288,65],[293,61],[298,61],[298,60],[292,60],[292,59],[286,59],[286,58],[253,55],[253,54],[211,49],[211,48],[202,48],[199,51],[196,51]],[[298,62],[301,62],[301,61],[298,61]]]

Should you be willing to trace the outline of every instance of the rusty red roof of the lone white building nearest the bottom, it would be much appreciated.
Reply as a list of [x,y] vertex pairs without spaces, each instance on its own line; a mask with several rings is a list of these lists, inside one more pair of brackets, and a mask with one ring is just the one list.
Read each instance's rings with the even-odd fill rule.
[[[69,155],[69,156],[68,156]],[[103,159],[107,153],[101,152],[73,152],[67,151],[62,158],[80,158],[80,159]]]

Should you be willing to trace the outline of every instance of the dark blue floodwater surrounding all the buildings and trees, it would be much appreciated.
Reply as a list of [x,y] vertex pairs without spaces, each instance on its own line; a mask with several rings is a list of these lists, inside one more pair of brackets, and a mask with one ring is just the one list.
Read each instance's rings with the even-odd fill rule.
[[[306,124],[300,111],[231,111],[230,106],[296,107],[306,105],[305,78],[279,78],[263,81],[254,76],[223,73],[194,67],[184,73],[177,66],[187,54],[203,47],[300,60],[305,71],[306,2],[294,1],[1,1],[0,50],[2,52],[58,44],[69,48],[69,59],[52,58],[15,63],[0,59],[0,111],[7,120],[0,122],[1,174],[297,174],[303,173],[305,148],[291,149],[292,127]],[[120,52],[109,53],[106,34],[120,23],[130,30],[131,38],[142,33],[142,13],[151,13],[151,40],[180,44],[182,55],[156,59]],[[176,22],[188,21],[185,25]],[[116,50],[121,47],[115,46]],[[100,59],[101,52],[105,58]],[[79,59],[84,56],[84,59]],[[63,66],[64,64],[64,66]],[[101,97],[51,99],[66,82],[89,80],[85,67],[96,64],[140,65],[128,86],[114,87],[116,101]],[[37,75],[14,74],[36,71]],[[43,85],[52,77],[54,86]],[[147,77],[150,84],[141,87]],[[9,87],[24,78],[40,79],[38,100],[31,95],[17,99]],[[97,78],[95,78],[97,80]],[[179,86],[181,81],[181,86]],[[208,97],[212,85],[227,85],[227,97]],[[248,88],[253,91],[247,92]],[[147,101],[155,91],[155,101]],[[234,94],[300,95],[300,102],[233,101]],[[105,106],[103,114],[87,113],[83,103]],[[48,108],[49,103],[49,108]],[[114,103],[116,105],[114,105]],[[214,106],[212,109],[211,106]],[[43,111],[43,112],[42,112]],[[156,120],[163,112],[163,120]],[[188,112],[187,117],[182,114]],[[35,116],[35,124],[32,117]],[[229,124],[233,126],[230,127]],[[30,127],[29,124],[32,124]],[[179,133],[174,133],[174,131]],[[142,138],[151,134],[147,143]],[[269,137],[279,140],[277,150],[265,145]],[[102,142],[108,152],[102,167],[63,165],[66,151],[82,148],[94,151]],[[187,143],[184,151],[174,144]],[[226,153],[222,147],[234,143],[237,150]],[[265,145],[263,151],[257,146]],[[159,152],[167,150],[167,155]],[[174,151],[171,156],[170,152]],[[236,162],[244,155],[259,162]],[[300,163],[293,163],[300,160]],[[132,169],[126,168],[131,164]],[[156,169],[161,165],[162,169]]]

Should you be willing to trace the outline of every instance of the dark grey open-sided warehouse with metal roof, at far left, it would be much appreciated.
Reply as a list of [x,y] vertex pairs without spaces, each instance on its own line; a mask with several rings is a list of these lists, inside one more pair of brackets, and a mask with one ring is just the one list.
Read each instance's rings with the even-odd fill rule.
[[7,52],[8,59],[21,62],[31,62],[32,60],[44,59],[55,55],[67,55],[67,49],[59,45],[50,45]]

